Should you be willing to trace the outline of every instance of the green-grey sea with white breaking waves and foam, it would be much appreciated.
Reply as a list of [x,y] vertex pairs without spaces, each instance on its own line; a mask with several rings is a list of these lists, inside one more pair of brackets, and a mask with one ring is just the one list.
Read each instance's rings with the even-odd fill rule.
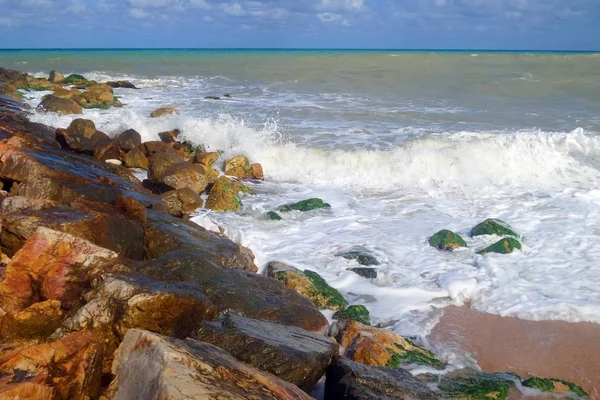
[[[252,249],[261,270],[318,272],[399,334],[425,338],[444,307],[464,304],[600,323],[600,54],[12,50],[0,66],[130,80],[140,90],[115,90],[124,107],[83,117],[145,141],[178,128],[223,159],[262,164],[242,211],[193,221]],[[44,94],[25,97],[35,109]],[[158,107],[179,114],[149,118]],[[62,128],[73,118],[31,115]],[[331,209],[264,216],[312,197]],[[469,237],[486,218],[513,226],[522,250],[478,255],[499,239]],[[441,229],[469,247],[432,248]],[[379,260],[377,278],[336,256],[349,249]]]

